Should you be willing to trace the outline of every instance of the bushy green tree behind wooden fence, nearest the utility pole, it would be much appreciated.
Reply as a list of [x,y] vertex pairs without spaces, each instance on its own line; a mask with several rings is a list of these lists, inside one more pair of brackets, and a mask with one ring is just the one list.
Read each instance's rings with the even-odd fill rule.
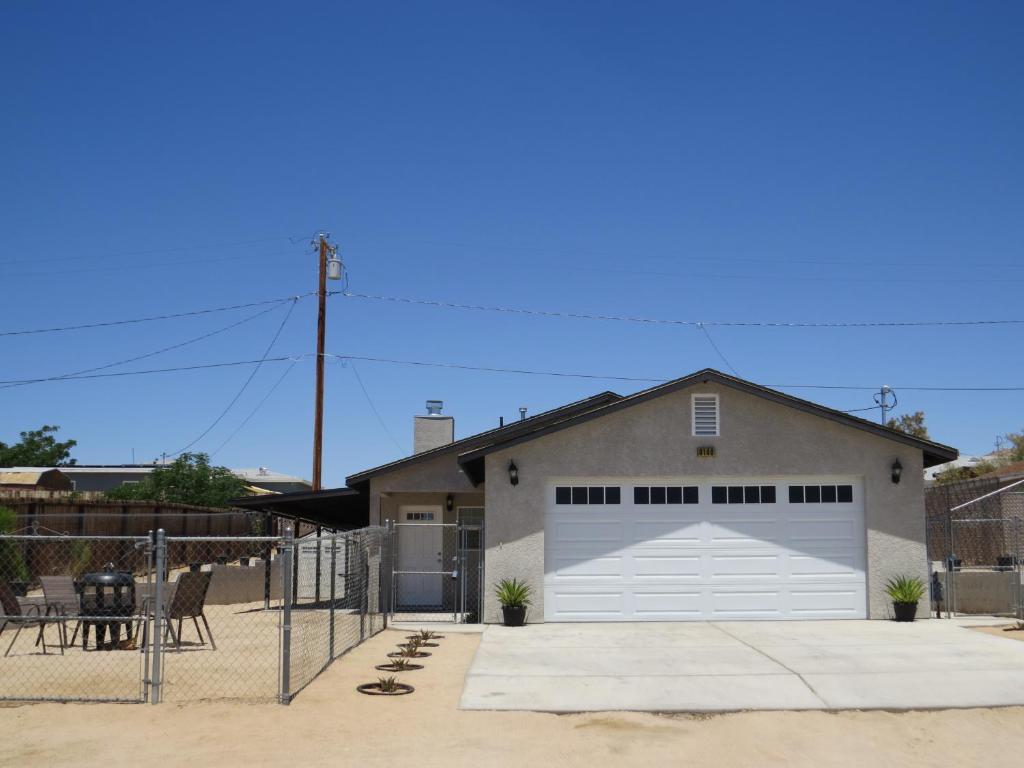
[[139,482],[112,488],[105,496],[119,501],[226,507],[228,501],[245,493],[245,481],[231,474],[226,467],[210,466],[210,457],[206,454],[182,454],[172,464],[155,467]]

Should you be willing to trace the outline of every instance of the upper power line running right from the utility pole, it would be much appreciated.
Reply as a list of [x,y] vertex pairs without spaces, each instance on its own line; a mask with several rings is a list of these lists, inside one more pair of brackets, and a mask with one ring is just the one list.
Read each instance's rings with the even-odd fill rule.
[[803,322],[764,322],[764,321],[688,321],[664,317],[636,317],[621,314],[589,314],[586,312],[565,312],[550,309],[524,309],[522,307],[493,306],[485,304],[460,304],[436,299],[415,299],[401,296],[382,296],[378,294],[353,293],[337,291],[349,299],[370,299],[373,301],[388,301],[398,304],[418,304],[442,309],[467,309],[481,312],[504,312],[507,314],[524,314],[539,317],[560,317],[564,319],[608,321],[616,323],[638,323],[662,326],[719,326],[723,328],[916,328],[944,326],[1018,326],[1024,325],[1024,319],[971,319],[971,321],[864,321],[856,323],[803,323]]

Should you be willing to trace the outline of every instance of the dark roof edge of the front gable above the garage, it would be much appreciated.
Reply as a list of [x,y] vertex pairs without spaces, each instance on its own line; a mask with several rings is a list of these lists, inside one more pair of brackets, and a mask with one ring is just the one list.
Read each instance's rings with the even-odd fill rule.
[[769,389],[768,387],[754,384],[753,382],[744,379],[723,374],[721,371],[716,371],[713,368],[706,368],[701,371],[690,374],[689,376],[683,376],[679,379],[666,382],[665,384],[657,384],[653,387],[637,392],[636,394],[631,394],[627,397],[620,397],[616,400],[608,402],[604,406],[593,408],[582,413],[568,415],[562,419],[544,425],[528,435],[494,435],[494,438],[487,441],[486,444],[461,453],[459,455],[459,463],[467,465],[471,462],[482,459],[493,451],[509,447],[510,445],[515,445],[516,443],[523,442],[524,440],[530,440],[536,437],[541,437],[542,435],[551,434],[552,432],[557,432],[561,429],[565,429],[566,427],[574,426],[575,424],[581,424],[585,421],[614,413],[622,409],[629,408],[630,406],[636,406],[640,402],[653,399],[654,397],[659,397],[680,389],[685,389],[686,387],[694,384],[708,384],[711,382],[721,384],[741,392],[746,392],[748,394],[753,394],[758,397],[763,397],[766,400],[777,402],[781,406],[787,406],[798,411],[803,411],[804,413],[820,416],[824,419],[828,419],[829,421],[843,424],[844,426],[861,429],[865,432],[870,432],[881,437],[895,440],[896,442],[902,442],[906,445],[912,445],[913,447],[921,449],[925,455],[926,467],[952,461],[959,455],[956,449],[950,447],[949,445],[943,445],[940,442],[933,442],[932,440],[923,440],[920,437],[913,437],[912,435],[900,432],[897,429],[891,429],[890,427],[876,424],[874,422],[867,421],[866,419],[851,416],[850,414],[842,411],[836,411],[835,409],[826,408],[825,406],[820,406],[816,402],[811,402],[810,400],[794,397],[793,395],[784,394],[775,389]]

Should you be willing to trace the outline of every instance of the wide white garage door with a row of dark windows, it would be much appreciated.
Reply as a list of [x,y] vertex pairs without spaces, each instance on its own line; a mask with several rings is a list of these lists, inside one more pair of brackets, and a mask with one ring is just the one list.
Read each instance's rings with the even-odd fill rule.
[[548,499],[545,621],[866,617],[856,478],[566,478]]

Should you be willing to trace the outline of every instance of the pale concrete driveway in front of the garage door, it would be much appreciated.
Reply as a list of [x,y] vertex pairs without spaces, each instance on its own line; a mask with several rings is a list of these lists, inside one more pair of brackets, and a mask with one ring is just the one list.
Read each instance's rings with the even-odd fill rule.
[[1024,705],[1024,642],[965,624],[488,627],[460,707],[731,712]]

